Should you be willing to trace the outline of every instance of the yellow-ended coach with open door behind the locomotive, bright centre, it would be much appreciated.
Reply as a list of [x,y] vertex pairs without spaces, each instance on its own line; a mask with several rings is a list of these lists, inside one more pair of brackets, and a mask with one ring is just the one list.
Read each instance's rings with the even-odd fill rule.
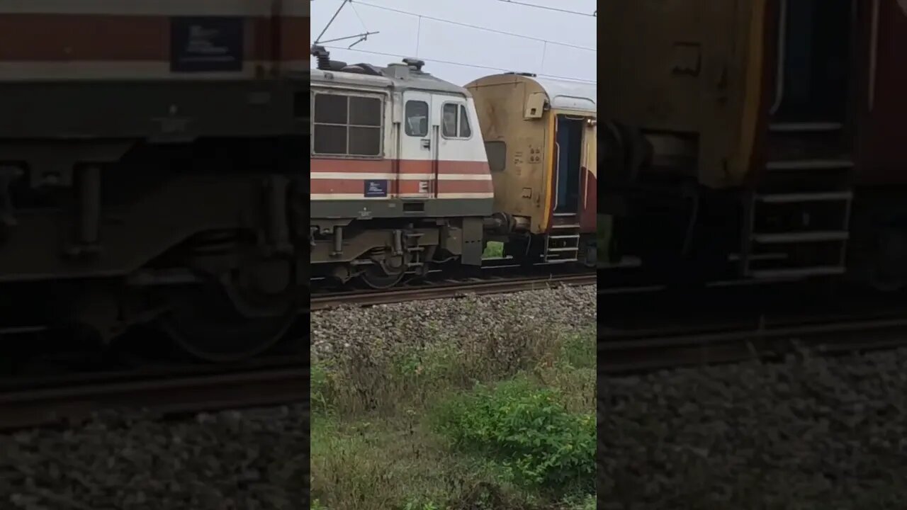
[[597,211],[594,85],[495,74],[468,83],[492,170],[494,211],[523,236],[505,250],[594,266]]

